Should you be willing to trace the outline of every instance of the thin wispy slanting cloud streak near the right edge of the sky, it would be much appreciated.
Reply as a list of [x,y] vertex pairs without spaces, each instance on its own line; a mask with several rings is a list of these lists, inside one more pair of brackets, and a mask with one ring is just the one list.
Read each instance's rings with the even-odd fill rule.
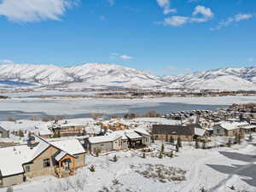
[[229,17],[226,20],[223,20],[218,23],[218,26],[211,28],[210,30],[215,31],[219,30],[224,26],[230,26],[234,22],[240,22],[241,20],[249,20],[252,19],[253,15],[252,14],[237,14],[232,17]]

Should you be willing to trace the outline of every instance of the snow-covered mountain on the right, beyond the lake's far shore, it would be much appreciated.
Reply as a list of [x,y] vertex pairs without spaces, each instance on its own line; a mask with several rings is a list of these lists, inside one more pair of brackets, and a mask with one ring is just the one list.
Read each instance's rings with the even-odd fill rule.
[[163,76],[174,87],[220,90],[256,89],[256,67],[227,67],[203,72]]

